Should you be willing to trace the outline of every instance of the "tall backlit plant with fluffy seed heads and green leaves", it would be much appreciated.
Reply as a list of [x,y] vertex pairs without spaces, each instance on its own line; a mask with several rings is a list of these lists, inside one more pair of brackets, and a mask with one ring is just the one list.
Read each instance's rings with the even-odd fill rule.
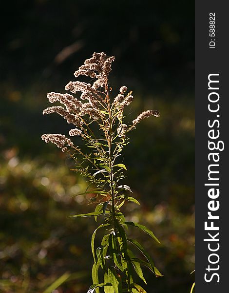
[[[75,161],[75,172],[86,177],[89,186],[84,194],[93,194],[90,203],[95,205],[95,211],[87,214],[77,214],[73,217],[103,216],[104,222],[98,226],[91,240],[94,265],[92,268],[93,285],[88,293],[99,293],[103,287],[105,293],[142,292],[144,289],[134,282],[134,271],[146,283],[141,266],[146,266],[153,274],[161,276],[154,266],[151,256],[135,239],[127,237],[128,226],[134,226],[150,235],[154,241],[160,243],[151,230],[143,225],[125,220],[121,207],[125,202],[139,202],[131,196],[129,186],[119,183],[126,175],[126,167],[118,163],[122,149],[128,141],[128,133],[144,118],[159,117],[156,110],[141,113],[132,125],[124,123],[123,110],[133,101],[132,91],[127,93],[127,87],[121,86],[119,93],[111,101],[112,88],[108,84],[108,75],[111,71],[115,57],[108,57],[103,52],[94,53],[75,72],[75,77],[86,76],[92,83],[80,81],[69,82],[66,90],[71,93],[81,92],[78,100],[71,94],[48,93],[50,103],[57,105],[48,107],[43,114],[57,113],[75,128],[69,135],[80,136],[88,151],[83,151],[79,146],[62,134],[43,134],[42,140],[54,143],[67,152]],[[97,230],[104,229],[105,235],[101,245],[95,248],[95,234]],[[144,260],[134,256],[129,248],[135,246],[144,255]],[[103,272],[103,280],[99,280]]]

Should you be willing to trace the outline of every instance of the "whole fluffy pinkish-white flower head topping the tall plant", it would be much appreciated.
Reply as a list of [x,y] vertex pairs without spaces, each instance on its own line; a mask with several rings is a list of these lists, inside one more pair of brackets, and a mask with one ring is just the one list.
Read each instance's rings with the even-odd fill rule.
[[[108,95],[108,75],[111,71],[112,62],[115,61],[115,57],[108,57],[105,53],[94,53],[93,56],[87,59],[83,65],[74,73],[75,77],[87,76],[93,78],[93,83],[85,83],[80,81],[71,81],[65,89],[69,90],[72,94],[81,93],[79,99],[69,93],[61,94],[56,92],[50,92],[47,94],[47,98],[50,103],[59,103],[61,105],[55,105],[48,107],[43,111],[43,114],[57,113],[62,116],[67,123],[73,124],[77,128],[69,131],[70,136],[82,136],[87,133],[88,125],[95,121],[104,132],[110,127],[111,119],[118,120],[118,126],[116,131],[119,138],[124,138],[128,131],[133,130],[134,126],[142,119],[155,116],[159,117],[159,112],[155,110],[148,110],[141,113],[133,121],[132,126],[123,124],[123,111],[125,106],[129,106],[134,97],[132,91],[126,94],[127,87],[121,86],[119,93],[116,95],[113,103],[110,105],[110,97]],[[83,132],[82,132],[83,131]],[[88,136],[89,137],[89,136]],[[68,144],[67,138],[57,134],[44,134],[42,139],[45,142],[52,142],[62,150],[65,144]]]

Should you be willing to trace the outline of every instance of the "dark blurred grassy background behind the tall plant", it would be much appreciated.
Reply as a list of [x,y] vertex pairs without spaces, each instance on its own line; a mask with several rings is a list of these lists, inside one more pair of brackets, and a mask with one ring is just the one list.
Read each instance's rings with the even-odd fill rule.
[[[70,126],[61,117],[42,116],[46,94],[64,93],[78,66],[101,51],[116,58],[114,95],[121,85],[133,90],[128,121],[147,109],[161,114],[144,120],[124,151],[123,183],[141,203],[124,207],[126,218],[146,225],[162,242],[129,230],[164,274],[154,278],[143,269],[147,286],[137,280],[148,293],[190,292],[194,2],[2,1],[0,19],[0,292],[84,293],[91,284],[97,224],[68,218],[91,209],[88,198],[72,198],[87,184],[40,135],[67,134]],[[49,287],[55,280],[56,290]]]

